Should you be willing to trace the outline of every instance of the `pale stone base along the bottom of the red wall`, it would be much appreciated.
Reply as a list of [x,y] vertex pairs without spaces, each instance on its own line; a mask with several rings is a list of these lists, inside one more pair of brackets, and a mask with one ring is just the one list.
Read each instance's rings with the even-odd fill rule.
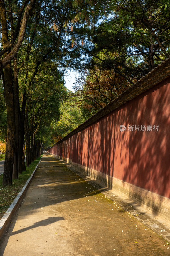
[[100,182],[103,186],[113,190],[120,197],[127,197],[145,208],[158,218],[170,221],[170,199],[160,196],[146,189],[137,187],[130,183],[108,176],[86,166],[72,162],[71,159],[62,156],[53,155],[61,160],[69,163],[76,171],[89,176],[96,182]]

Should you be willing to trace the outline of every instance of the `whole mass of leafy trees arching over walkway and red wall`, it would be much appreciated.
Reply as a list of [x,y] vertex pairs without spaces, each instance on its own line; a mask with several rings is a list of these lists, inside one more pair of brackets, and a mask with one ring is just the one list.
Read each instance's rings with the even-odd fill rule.
[[[52,145],[169,57],[170,6],[0,0],[0,7],[0,140],[3,184],[11,185],[25,167],[24,143],[29,165],[45,138]],[[67,68],[80,72],[74,92],[64,86]]]

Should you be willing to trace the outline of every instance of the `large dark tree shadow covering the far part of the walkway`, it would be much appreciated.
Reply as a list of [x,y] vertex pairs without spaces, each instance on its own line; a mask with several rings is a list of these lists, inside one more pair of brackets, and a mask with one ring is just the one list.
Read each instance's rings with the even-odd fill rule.
[[43,156],[29,189],[36,191],[34,201],[37,203],[34,204],[32,196],[28,195],[28,214],[41,207],[101,193],[78,174],[69,170],[60,160],[49,155]]

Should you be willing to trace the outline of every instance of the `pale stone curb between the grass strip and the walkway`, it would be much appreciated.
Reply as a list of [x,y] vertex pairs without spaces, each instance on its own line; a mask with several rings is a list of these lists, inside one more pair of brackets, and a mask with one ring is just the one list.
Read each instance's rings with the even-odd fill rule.
[[[43,155],[42,155],[43,157]],[[41,157],[41,159],[42,159]],[[40,161],[41,161],[40,159]],[[5,212],[5,214],[3,215],[3,217],[1,218],[0,220],[0,237],[3,235],[6,227],[8,226],[14,212],[16,211],[19,203],[21,202],[23,196],[25,195],[26,193],[26,190],[29,186],[29,184],[31,183],[33,177],[34,177],[34,174],[35,174],[35,171],[37,170],[37,167],[38,165],[40,164],[40,161],[39,163],[37,164],[37,166],[35,167],[35,169],[33,170],[31,176],[29,177],[29,179],[26,181],[24,187],[22,188],[22,190],[18,193],[18,196],[14,199],[14,201],[12,202],[12,204],[10,205],[10,207],[8,208],[8,210]]]

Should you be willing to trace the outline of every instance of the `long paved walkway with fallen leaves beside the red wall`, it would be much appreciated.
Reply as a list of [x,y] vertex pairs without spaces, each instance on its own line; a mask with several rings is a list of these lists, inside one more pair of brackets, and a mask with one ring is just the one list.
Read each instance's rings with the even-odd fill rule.
[[[165,245],[165,246],[164,246]],[[162,256],[169,245],[45,154],[0,242],[0,256]]]

